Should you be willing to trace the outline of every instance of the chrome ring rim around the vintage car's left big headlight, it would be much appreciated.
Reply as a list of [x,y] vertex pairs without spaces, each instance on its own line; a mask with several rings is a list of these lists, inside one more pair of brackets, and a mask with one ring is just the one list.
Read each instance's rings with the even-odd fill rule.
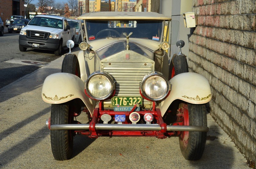
[[[111,90],[110,92],[108,93],[108,95],[106,95],[105,97],[95,97],[92,95],[92,93],[90,92],[90,90],[88,89],[88,84],[89,84],[89,81],[92,79],[92,77],[94,76],[97,76],[97,75],[102,75],[102,76],[105,76],[108,78],[108,80],[110,81],[110,84],[111,84]],[[95,99],[95,100],[106,100],[108,99],[109,97],[111,97],[115,91],[115,82],[114,82],[114,79],[113,77],[108,73],[108,72],[105,72],[105,71],[95,71],[93,72],[88,78],[87,80],[84,82],[84,88],[85,88],[85,92],[86,94],[91,98],[91,99]]]

